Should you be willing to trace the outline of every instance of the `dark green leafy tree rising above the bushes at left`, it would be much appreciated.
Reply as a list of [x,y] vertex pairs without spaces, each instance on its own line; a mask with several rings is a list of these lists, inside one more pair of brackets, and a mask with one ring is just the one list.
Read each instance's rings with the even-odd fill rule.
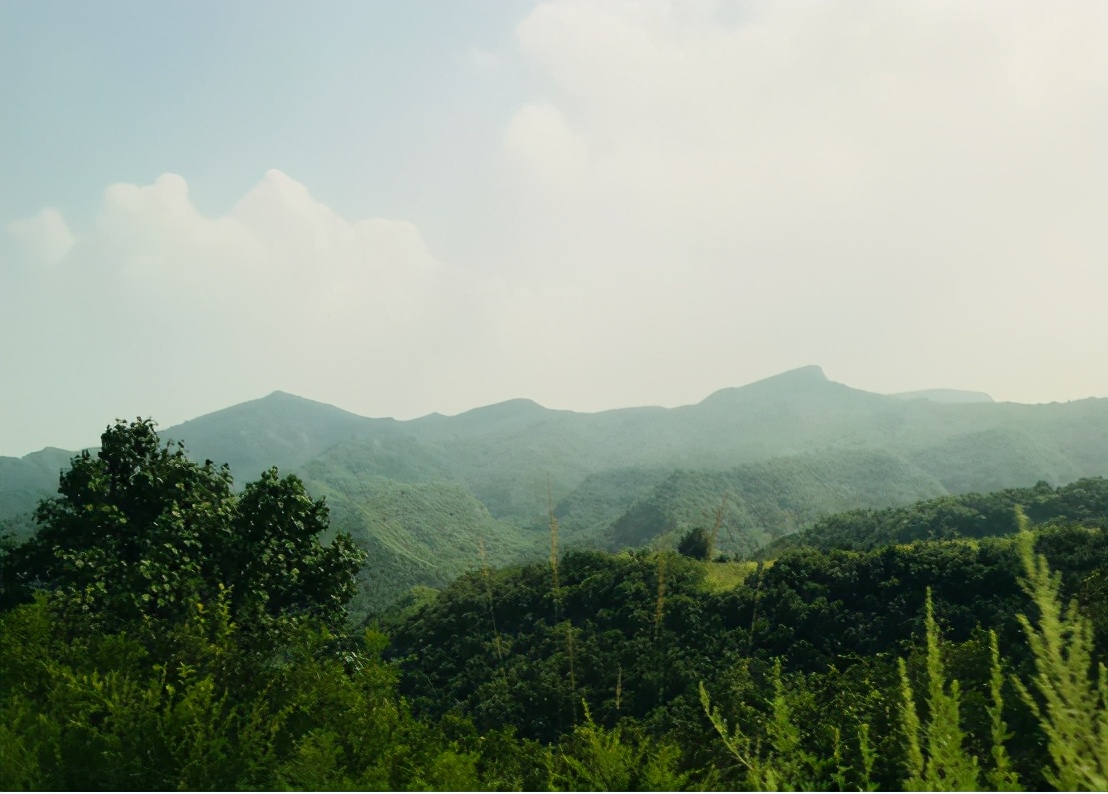
[[39,532],[8,556],[6,588],[59,594],[111,630],[182,622],[220,587],[248,625],[341,618],[363,553],[349,535],[320,543],[324,502],[276,470],[236,495],[226,466],[163,445],[154,426],[117,422],[95,455],[73,458]]

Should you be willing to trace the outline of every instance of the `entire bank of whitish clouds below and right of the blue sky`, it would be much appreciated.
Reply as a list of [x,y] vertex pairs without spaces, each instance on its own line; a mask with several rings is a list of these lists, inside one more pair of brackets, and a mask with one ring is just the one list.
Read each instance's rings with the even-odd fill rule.
[[166,174],[9,223],[0,452],[274,389],[598,410],[819,363],[1108,395],[1108,3],[555,1],[515,38],[473,269],[429,250],[449,218],[351,221],[279,171],[220,217]]

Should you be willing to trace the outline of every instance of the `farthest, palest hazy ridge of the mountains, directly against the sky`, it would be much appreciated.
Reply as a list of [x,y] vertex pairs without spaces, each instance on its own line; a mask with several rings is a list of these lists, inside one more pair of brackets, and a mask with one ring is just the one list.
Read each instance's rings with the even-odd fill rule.
[[[1049,405],[904,400],[835,383],[818,367],[724,389],[695,405],[593,414],[512,400],[398,422],[276,392],[163,436],[183,440],[199,460],[229,463],[240,482],[270,465],[296,470],[350,445],[332,456],[335,465],[342,460],[401,481],[461,482],[494,516],[516,524],[542,520],[547,482],[560,502],[608,468],[727,470],[829,448],[885,450],[945,477],[953,491],[1108,474],[1108,399]],[[1013,463],[1017,457],[1027,460]]]

